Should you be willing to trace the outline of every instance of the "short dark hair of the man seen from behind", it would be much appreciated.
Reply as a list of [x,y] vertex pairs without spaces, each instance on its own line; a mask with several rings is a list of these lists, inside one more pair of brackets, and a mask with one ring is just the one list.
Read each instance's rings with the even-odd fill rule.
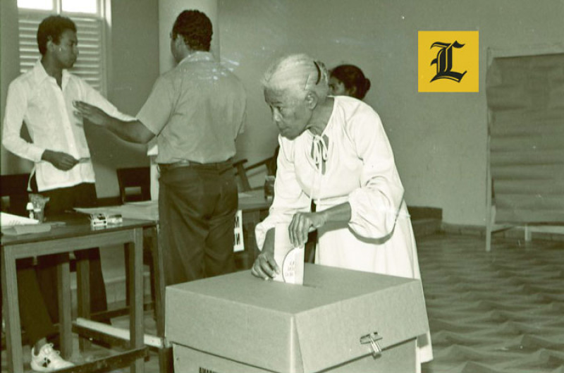
[[212,21],[201,11],[183,11],[172,27],[173,37],[179,35],[190,49],[209,51],[212,43]]

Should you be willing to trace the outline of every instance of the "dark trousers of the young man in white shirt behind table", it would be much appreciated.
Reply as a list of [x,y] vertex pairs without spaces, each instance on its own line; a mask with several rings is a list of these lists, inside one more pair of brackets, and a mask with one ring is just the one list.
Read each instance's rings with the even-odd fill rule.
[[[37,184],[32,179],[32,190],[37,192]],[[73,207],[94,207],[97,196],[94,183],[83,183],[71,188],[48,190],[40,193],[49,197],[45,208],[47,221],[73,209]],[[98,248],[74,252],[77,259],[90,260],[90,305],[91,312],[107,310],[106,287],[102,276],[102,263]],[[44,255],[37,257],[37,265],[31,259],[18,260],[18,298],[23,329],[30,343],[41,338],[55,336],[53,324],[59,321],[58,285],[55,265],[68,260],[66,255]]]

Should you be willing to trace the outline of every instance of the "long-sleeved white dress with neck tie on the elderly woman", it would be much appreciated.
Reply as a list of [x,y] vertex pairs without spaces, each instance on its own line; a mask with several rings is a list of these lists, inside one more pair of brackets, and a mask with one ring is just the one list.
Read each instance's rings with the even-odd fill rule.
[[[257,245],[262,248],[276,224],[309,211],[311,200],[317,211],[349,202],[350,221],[319,228],[315,263],[421,279],[403,185],[380,117],[357,99],[334,99],[321,136],[278,137],[274,201],[256,227]],[[431,339],[422,337],[418,358],[426,362]]]

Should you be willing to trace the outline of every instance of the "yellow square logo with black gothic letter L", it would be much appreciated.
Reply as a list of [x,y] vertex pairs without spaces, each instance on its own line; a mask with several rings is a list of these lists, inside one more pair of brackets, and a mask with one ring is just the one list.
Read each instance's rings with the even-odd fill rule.
[[419,92],[478,92],[477,31],[419,31]]

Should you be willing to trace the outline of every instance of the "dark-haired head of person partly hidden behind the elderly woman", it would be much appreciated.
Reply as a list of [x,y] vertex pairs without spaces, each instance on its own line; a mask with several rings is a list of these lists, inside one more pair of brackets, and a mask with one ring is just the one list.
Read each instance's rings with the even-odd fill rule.
[[331,70],[329,90],[333,96],[364,99],[370,89],[370,80],[355,65],[339,65]]

